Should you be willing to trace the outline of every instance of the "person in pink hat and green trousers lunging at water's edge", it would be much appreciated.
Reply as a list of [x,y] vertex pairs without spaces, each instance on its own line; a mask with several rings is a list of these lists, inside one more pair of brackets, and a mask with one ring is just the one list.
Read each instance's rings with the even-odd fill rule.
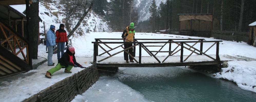
[[62,57],[58,60],[57,66],[48,70],[45,74],[45,77],[51,78],[51,75],[54,72],[60,70],[61,68],[65,68],[65,73],[72,73],[70,70],[73,67],[83,68],[83,66],[77,63],[77,61],[75,60],[75,48],[73,46],[70,46],[62,55]]

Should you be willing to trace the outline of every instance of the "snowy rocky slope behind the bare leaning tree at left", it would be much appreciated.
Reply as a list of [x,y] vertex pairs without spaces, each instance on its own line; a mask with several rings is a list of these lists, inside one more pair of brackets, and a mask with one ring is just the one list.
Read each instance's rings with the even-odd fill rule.
[[[61,23],[65,23],[65,12],[63,11],[63,5],[58,0],[52,0],[51,2],[40,1],[39,3],[39,17],[45,22],[46,30],[50,28],[50,25],[55,25],[56,30],[59,29]],[[80,27],[82,34],[93,32],[96,25],[96,32],[102,32],[103,28],[108,28],[107,22],[103,17],[95,14],[92,10],[81,22]],[[78,21],[79,18],[74,18],[74,21]],[[97,23],[97,24],[96,24]],[[74,27],[75,25],[73,25]],[[40,33],[43,33],[43,23],[40,23]],[[76,31],[78,33],[78,30]]]

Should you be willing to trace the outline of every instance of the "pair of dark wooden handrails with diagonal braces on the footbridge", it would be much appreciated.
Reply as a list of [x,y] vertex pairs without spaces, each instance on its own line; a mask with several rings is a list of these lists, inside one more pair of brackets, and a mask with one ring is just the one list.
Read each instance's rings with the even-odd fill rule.
[[[102,39],[101,39],[102,40]],[[105,39],[105,40],[109,40],[109,39]],[[113,40],[113,39],[110,39],[110,40]],[[116,39],[115,39],[116,40]],[[121,40],[121,39],[120,39]],[[138,40],[138,39],[137,39]],[[137,40],[135,40],[135,41],[137,41]],[[145,39],[144,39],[145,40]],[[151,40],[151,39],[150,39]],[[154,39],[154,40],[163,40],[163,39]],[[110,51],[112,51],[113,49],[110,49],[110,50],[105,50],[102,46],[100,46],[104,51],[105,51],[105,53],[108,53],[110,56],[108,56],[107,58],[103,58],[103,59],[101,59],[101,60],[99,60],[98,62],[101,62],[101,61],[103,61],[103,60],[105,60],[105,59],[108,59],[109,57],[112,57],[112,56],[114,56],[114,55],[116,55],[116,54],[118,54],[118,53],[121,53],[121,52],[125,52],[125,53],[128,53],[130,56],[132,56],[133,57],[133,59],[135,59],[135,61],[137,62],[137,63],[141,63],[141,48],[144,48],[148,53],[149,53],[149,55],[150,56],[153,56],[159,63],[161,63],[160,61],[159,61],[159,59],[152,53],[152,52],[157,52],[157,53],[169,53],[169,55],[162,61],[162,63],[169,57],[169,56],[172,56],[172,55],[174,55],[175,53],[177,53],[177,52],[179,52],[179,51],[181,51],[181,58],[180,58],[180,62],[184,62],[184,61],[186,61],[187,59],[188,59],[188,57],[190,57],[193,53],[195,53],[195,54],[197,54],[197,55],[205,55],[205,56],[207,56],[207,57],[209,57],[209,58],[211,58],[211,59],[213,59],[214,61],[220,61],[220,58],[219,58],[219,43],[220,42],[222,42],[222,41],[203,41],[203,39],[190,39],[190,40],[198,40],[198,41],[173,41],[173,40],[170,40],[170,39],[164,39],[164,40],[168,40],[168,41],[165,41],[165,42],[159,42],[159,41],[157,41],[157,42],[102,42],[102,41],[99,41],[99,39],[96,39],[96,42],[92,42],[93,44],[94,44],[94,61],[96,61],[96,56],[98,56],[98,46],[99,46],[99,44],[104,44],[104,45],[106,45],[106,44],[122,44],[122,45],[124,45],[124,44],[134,44],[134,46],[131,46],[131,47],[129,47],[129,48],[132,48],[132,47],[136,47],[136,45],[138,45],[139,46],[139,61],[137,61],[135,58],[134,58],[134,56],[132,56],[131,54],[129,54],[126,50],[128,49],[128,48],[126,48],[126,49],[124,49],[124,50],[122,50],[122,51],[119,51],[119,52],[117,52],[117,53],[115,53],[115,54],[110,54],[109,52]],[[175,40],[179,40],[179,39],[175,39]],[[187,39],[186,39],[187,40]],[[162,46],[162,48],[159,50],[159,51],[150,51],[147,47],[156,47],[157,45],[147,45],[147,46],[145,46],[144,44],[168,44],[169,43],[169,50],[168,51],[161,51],[161,49],[164,47],[164,46]],[[174,50],[171,50],[171,44],[172,43],[175,43],[175,44],[178,44],[178,46],[174,49]],[[188,43],[195,43],[195,44],[193,44],[193,45],[189,45]],[[197,48],[195,48],[195,47],[193,47],[194,45],[196,45],[197,43],[200,43],[200,49],[197,49]],[[216,44],[216,59],[215,58],[213,58],[213,57],[211,57],[211,56],[209,56],[209,55],[207,55],[207,54],[205,54],[205,52],[207,52],[207,50],[209,50],[210,48],[212,48],[213,47],[213,45],[211,45],[205,52],[203,52],[203,43],[214,43],[213,45],[215,45]],[[119,45],[118,47],[123,47],[122,45]],[[184,45],[186,45],[186,46],[188,46],[188,47],[185,47]],[[178,51],[176,51],[175,53],[173,53],[179,46],[181,46],[181,49],[179,49]],[[116,48],[118,48],[118,47],[115,47],[114,49],[116,49]],[[161,47],[161,46],[157,46],[157,47]],[[183,51],[184,51],[184,48],[185,49],[187,49],[187,50],[189,50],[189,51],[191,51],[192,53],[190,53],[186,58],[185,58],[185,60],[183,60]],[[193,50],[192,50],[192,49]],[[195,52],[195,51],[197,51],[197,52]],[[102,53],[102,54],[100,54],[100,55],[103,55],[103,54],[105,54],[105,53]],[[97,54],[97,55],[96,55]]]

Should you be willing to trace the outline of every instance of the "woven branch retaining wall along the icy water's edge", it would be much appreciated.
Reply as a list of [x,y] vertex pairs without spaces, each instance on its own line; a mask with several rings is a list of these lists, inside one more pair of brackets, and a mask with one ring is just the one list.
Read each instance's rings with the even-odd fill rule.
[[[92,65],[89,68],[97,68]],[[84,69],[39,93],[39,102],[70,102],[77,94],[84,93],[99,79],[98,70]]]

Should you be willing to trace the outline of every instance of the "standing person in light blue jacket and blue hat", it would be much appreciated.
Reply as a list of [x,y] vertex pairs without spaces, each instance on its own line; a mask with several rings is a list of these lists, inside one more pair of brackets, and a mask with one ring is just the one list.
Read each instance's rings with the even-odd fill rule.
[[52,55],[53,55],[53,46],[56,45],[55,43],[55,26],[51,25],[49,31],[46,33],[46,47],[48,48],[48,66],[54,66],[52,62]]

